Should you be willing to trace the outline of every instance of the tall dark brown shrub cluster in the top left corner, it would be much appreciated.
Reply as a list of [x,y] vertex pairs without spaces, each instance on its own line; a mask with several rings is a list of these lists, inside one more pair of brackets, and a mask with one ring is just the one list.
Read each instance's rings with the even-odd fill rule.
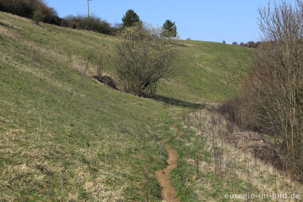
[[45,0],[1,0],[0,11],[25,18],[37,17],[35,21],[61,25],[61,19],[55,8],[49,7]]

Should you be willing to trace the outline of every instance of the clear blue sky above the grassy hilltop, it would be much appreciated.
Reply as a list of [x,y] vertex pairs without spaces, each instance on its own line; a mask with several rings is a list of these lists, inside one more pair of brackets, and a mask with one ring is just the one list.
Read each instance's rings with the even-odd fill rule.
[[[268,0],[128,0],[89,1],[89,12],[110,23],[122,22],[126,10],[133,9],[145,22],[162,25],[166,19],[176,22],[182,39],[227,43],[257,41],[259,29],[256,23],[258,6],[266,6]],[[87,0],[49,0],[61,17],[69,14],[87,14]]]

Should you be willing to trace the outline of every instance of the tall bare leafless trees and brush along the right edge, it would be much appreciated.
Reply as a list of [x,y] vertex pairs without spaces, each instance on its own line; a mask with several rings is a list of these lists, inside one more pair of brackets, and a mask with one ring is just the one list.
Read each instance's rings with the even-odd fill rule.
[[249,52],[234,118],[275,137],[291,172],[303,176],[303,1],[258,12],[262,44]]

